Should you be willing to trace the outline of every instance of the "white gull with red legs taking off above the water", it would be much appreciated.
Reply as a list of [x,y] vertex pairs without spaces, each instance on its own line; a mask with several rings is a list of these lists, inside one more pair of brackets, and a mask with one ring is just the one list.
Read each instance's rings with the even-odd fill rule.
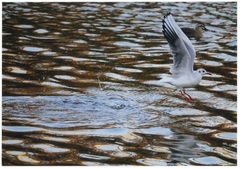
[[161,83],[168,83],[180,89],[181,95],[187,101],[193,102],[192,97],[185,92],[185,88],[197,86],[202,80],[203,75],[211,75],[205,69],[200,68],[193,70],[194,59],[196,57],[195,49],[174,21],[172,14],[169,12],[162,20],[163,35],[173,55],[173,66],[170,68],[171,77],[165,77],[160,80]]

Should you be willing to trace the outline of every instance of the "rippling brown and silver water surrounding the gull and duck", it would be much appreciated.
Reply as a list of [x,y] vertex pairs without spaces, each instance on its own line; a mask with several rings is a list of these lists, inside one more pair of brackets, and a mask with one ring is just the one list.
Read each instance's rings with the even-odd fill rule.
[[[3,165],[236,165],[237,3],[3,3]],[[171,11],[195,68],[187,92],[159,86]]]

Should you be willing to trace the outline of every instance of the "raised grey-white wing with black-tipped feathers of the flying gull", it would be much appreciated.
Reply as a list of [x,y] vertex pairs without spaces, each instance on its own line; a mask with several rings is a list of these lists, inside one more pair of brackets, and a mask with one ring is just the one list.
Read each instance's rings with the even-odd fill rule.
[[170,72],[174,76],[193,72],[196,53],[191,41],[174,21],[171,13],[163,19],[163,34],[169,43],[173,55],[173,66]]

